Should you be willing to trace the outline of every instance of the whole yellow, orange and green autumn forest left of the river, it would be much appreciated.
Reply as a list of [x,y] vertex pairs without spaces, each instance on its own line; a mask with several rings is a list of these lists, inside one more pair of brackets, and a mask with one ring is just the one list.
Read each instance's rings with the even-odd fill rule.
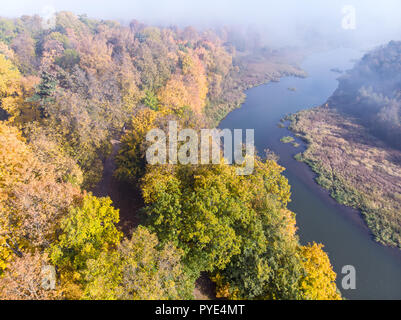
[[[213,126],[245,88],[303,75],[293,53],[254,40],[68,12],[47,29],[0,19],[1,299],[191,299],[201,273],[217,297],[341,298],[322,246],[298,241],[274,160],[250,176],[145,163],[149,129]],[[112,139],[116,178],[144,202],[125,233],[110,198],[90,192]]]

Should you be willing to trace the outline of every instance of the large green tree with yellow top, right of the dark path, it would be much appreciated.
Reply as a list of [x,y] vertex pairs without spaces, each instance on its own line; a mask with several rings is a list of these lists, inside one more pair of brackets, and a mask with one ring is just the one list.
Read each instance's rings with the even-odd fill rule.
[[231,215],[241,204],[230,203],[229,171],[224,166],[210,171],[156,167],[142,181],[149,227],[161,241],[172,241],[184,250],[185,262],[195,275],[224,267],[240,250]]

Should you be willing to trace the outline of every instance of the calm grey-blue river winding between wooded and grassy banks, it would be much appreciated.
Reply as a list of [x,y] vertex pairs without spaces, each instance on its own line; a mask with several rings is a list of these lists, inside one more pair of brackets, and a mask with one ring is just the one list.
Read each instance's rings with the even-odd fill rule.
[[[298,234],[302,244],[324,244],[337,285],[347,299],[401,299],[401,250],[374,242],[360,213],[339,205],[314,181],[314,173],[293,157],[305,148],[283,144],[280,138],[291,135],[279,128],[280,119],[301,109],[321,105],[337,88],[338,73],[332,68],[350,69],[362,51],[338,49],[310,55],[302,68],[306,79],[287,77],[246,92],[241,108],[231,112],[219,125],[229,129],[255,129],[255,146],[263,156],[266,148],[279,155],[279,163],[292,190],[289,208],[297,215]],[[288,88],[296,88],[290,91]],[[299,141],[298,141],[299,142]],[[341,287],[343,266],[356,269],[356,289]]]

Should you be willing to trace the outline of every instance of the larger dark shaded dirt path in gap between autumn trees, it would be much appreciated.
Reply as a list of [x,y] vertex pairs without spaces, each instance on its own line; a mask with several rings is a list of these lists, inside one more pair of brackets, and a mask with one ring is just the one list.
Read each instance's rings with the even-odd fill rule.
[[93,190],[97,197],[109,196],[115,208],[120,210],[120,227],[125,235],[130,235],[131,230],[138,226],[138,210],[143,206],[141,195],[129,184],[118,181],[114,176],[116,164],[115,156],[120,149],[120,142],[111,140],[113,151],[104,162],[102,180]]

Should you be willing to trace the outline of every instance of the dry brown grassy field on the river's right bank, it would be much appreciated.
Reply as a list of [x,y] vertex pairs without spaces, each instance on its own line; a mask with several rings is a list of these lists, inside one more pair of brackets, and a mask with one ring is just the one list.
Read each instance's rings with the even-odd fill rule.
[[327,106],[290,120],[290,129],[308,143],[296,159],[339,203],[361,210],[376,241],[401,248],[401,152]]

